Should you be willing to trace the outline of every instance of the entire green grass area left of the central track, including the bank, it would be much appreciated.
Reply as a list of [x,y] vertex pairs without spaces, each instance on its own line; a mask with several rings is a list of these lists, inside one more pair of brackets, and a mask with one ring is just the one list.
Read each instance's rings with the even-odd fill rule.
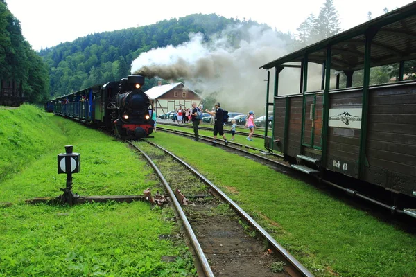
[[[0,181],[0,276],[194,274],[183,241],[159,239],[175,238],[178,231],[170,208],[150,211],[144,202],[73,207],[23,202],[60,194],[66,175],[57,174],[56,156],[68,144],[81,154],[74,192],[141,195],[157,181],[137,154],[105,134],[35,107],[24,105],[0,115],[8,118],[1,125],[1,151],[10,153],[0,157],[2,170],[12,169]],[[163,256],[173,257],[173,262],[162,262]]]

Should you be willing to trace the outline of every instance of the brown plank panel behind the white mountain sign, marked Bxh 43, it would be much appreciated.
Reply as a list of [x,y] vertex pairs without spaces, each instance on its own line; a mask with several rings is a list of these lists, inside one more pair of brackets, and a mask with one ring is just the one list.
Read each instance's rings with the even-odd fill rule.
[[[329,109],[361,108],[363,91],[329,93]],[[329,127],[327,165],[329,170],[358,178],[360,129]]]

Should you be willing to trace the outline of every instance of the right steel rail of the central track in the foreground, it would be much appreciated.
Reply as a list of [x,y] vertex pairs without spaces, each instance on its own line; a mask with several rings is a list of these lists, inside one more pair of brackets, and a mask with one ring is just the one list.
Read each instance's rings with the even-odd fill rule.
[[209,179],[207,179],[204,175],[200,174],[198,170],[190,166],[188,163],[186,163],[185,161],[177,157],[172,152],[166,150],[165,148],[162,148],[162,146],[152,143],[150,141],[146,141],[146,142],[150,143],[150,145],[153,145],[156,148],[159,148],[160,150],[164,151],[166,154],[171,155],[171,157],[173,157],[176,161],[182,163],[182,165],[184,165],[189,170],[191,170],[191,172],[193,172],[193,174],[196,175],[196,177],[200,178],[202,181],[205,182],[205,184],[209,185],[212,189],[214,189],[215,192],[218,195],[220,195],[221,198],[223,198],[227,203],[229,203],[234,208],[235,211],[237,211],[242,217],[244,217],[245,220],[247,220],[247,222],[251,226],[253,226],[254,229],[256,229],[263,236],[263,238],[266,238],[266,240],[268,240],[268,242],[272,245],[272,247],[276,249],[279,252],[279,254],[283,256],[284,259],[290,263],[292,269],[295,271],[293,273],[300,274],[300,276],[313,276],[313,274],[311,274],[311,272],[308,269],[306,269],[306,267],[304,267],[298,260],[296,260],[296,258],[293,257],[291,253],[289,253],[286,249],[284,249],[284,247],[281,244],[279,244],[279,242],[277,242],[266,230],[264,230],[263,227],[261,227],[250,215],[248,215],[248,213],[246,213],[243,210],[243,208],[241,208],[238,204],[236,204],[236,202],[234,202],[225,193],[223,193],[223,191],[220,190],[220,188],[218,188],[211,181],[209,181]]

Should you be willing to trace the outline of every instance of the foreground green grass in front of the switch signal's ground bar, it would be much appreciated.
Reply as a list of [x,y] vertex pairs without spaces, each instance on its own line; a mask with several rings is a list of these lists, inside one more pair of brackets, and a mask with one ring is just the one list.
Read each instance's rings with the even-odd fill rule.
[[188,275],[187,249],[159,239],[177,229],[166,211],[143,202],[0,209],[0,276]]

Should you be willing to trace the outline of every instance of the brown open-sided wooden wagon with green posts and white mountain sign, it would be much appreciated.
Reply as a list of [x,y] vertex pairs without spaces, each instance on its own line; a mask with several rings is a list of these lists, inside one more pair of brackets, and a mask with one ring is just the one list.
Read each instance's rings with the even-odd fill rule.
[[[416,81],[403,81],[414,59],[416,3],[410,3],[261,66],[268,70],[266,113],[269,106],[274,111],[266,148],[302,172],[340,172],[416,200]],[[322,65],[320,91],[307,91],[311,63]],[[397,66],[397,82],[370,85],[370,71],[386,65]],[[287,67],[300,69],[300,93],[280,96],[279,73]],[[363,76],[360,87],[352,87],[354,73]]]

